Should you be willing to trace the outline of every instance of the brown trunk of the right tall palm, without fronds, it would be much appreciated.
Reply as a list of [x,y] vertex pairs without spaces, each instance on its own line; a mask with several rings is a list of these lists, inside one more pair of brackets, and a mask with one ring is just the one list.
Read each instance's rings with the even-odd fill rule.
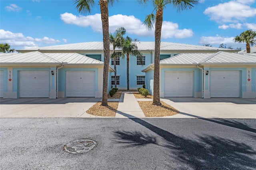
[[159,72],[160,72],[160,43],[161,43],[162,23],[163,23],[163,10],[162,10],[162,8],[158,8],[158,10],[156,11],[156,23],[155,23],[153,105],[161,105],[161,103],[160,103]]

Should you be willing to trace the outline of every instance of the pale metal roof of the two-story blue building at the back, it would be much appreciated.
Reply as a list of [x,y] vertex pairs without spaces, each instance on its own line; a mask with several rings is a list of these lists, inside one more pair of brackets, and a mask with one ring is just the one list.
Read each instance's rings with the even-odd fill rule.
[[[138,46],[138,50],[141,51],[151,51],[155,49],[155,42],[135,42]],[[40,50],[70,50],[70,51],[90,51],[90,50],[101,50],[103,51],[103,42],[83,42],[83,43],[72,43],[64,45],[53,45],[48,47],[37,47],[30,49],[22,49],[17,51],[39,51]],[[110,44],[110,50],[113,50],[113,46]],[[172,43],[172,42],[161,42],[160,50],[170,50],[170,51],[182,51],[182,50],[202,50],[202,51],[233,51],[232,49],[208,47],[202,45],[190,45],[182,43]],[[237,50],[234,50],[237,51]]]

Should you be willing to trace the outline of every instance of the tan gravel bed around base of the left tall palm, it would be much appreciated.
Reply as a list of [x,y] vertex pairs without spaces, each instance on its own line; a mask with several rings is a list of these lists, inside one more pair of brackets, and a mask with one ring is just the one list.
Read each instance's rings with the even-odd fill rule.
[[118,102],[108,101],[108,106],[102,106],[101,101],[95,103],[86,113],[94,116],[115,117]]

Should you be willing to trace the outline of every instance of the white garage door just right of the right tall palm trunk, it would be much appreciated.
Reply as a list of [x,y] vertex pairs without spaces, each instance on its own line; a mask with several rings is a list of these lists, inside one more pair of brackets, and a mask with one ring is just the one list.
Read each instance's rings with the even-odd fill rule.
[[192,71],[165,71],[164,97],[192,97]]

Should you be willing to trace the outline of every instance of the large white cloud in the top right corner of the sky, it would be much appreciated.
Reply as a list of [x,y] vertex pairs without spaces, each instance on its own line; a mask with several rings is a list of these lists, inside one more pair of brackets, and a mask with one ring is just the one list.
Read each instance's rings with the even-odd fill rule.
[[218,23],[244,21],[256,16],[256,8],[250,6],[255,0],[232,0],[206,8],[204,14]]

